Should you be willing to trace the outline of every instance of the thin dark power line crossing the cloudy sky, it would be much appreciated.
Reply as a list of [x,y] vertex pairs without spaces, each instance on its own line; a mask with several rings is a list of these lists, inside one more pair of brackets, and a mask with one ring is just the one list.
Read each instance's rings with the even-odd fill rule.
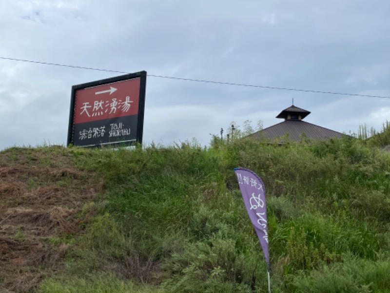
[[[66,65],[66,64],[59,64],[59,63],[48,63],[48,62],[32,61],[32,60],[23,60],[23,59],[16,59],[16,58],[0,57],[0,59],[3,59],[3,60],[12,60],[12,61],[20,61],[20,62],[28,62],[28,63],[37,63],[37,64],[44,64],[44,65],[54,65],[54,66],[78,68],[78,69],[105,71],[105,72],[115,72],[115,73],[124,73],[124,74],[128,74],[128,73],[129,73],[129,72],[125,72],[125,71],[117,71],[117,70],[109,70],[109,69],[100,69],[100,68],[92,68],[92,67],[83,67],[83,66],[74,66],[74,65]],[[343,96],[355,96],[355,97],[366,97],[366,98],[390,99],[389,96],[361,95],[361,94],[350,94],[350,93],[340,93],[340,92],[321,91],[321,90],[310,90],[310,89],[299,89],[299,88],[288,88],[288,87],[277,87],[277,86],[266,86],[266,85],[255,85],[255,84],[235,84],[235,83],[226,83],[226,82],[208,81],[208,80],[198,80],[198,79],[191,79],[191,78],[181,78],[181,77],[154,75],[154,74],[148,74],[148,76],[157,77],[157,78],[173,79],[173,80],[181,80],[181,81],[189,81],[189,82],[197,82],[197,83],[225,84],[225,85],[234,85],[234,86],[246,86],[246,87],[268,88],[268,89],[298,91],[298,92],[317,93],[317,94],[330,94],[330,95],[343,95]]]

